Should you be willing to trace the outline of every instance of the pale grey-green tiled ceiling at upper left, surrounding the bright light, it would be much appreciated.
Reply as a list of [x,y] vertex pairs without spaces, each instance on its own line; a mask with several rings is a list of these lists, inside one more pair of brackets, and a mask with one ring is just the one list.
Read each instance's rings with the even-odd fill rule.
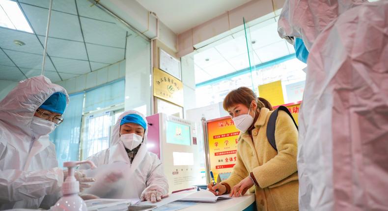
[[[80,15],[90,17],[81,17],[85,40],[97,44],[87,44],[88,52],[83,42],[76,1]],[[0,27],[0,47],[5,52],[0,50],[0,64],[4,66],[0,71],[4,72],[2,76],[4,79],[20,80],[23,73],[28,77],[40,74],[43,59],[41,54],[44,50],[41,43],[45,42],[48,2],[49,0],[20,0],[21,8],[31,27],[38,34],[38,39],[34,34]],[[52,13],[48,54],[55,66],[47,58],[45,72],[45,75],[54,82],[60,81],[60,77],[71,79],[89,73],[91,67],[97,70],[124,59],[126,29],[116,25],[115,19],[104,11],[90,5],[88,0],[54,0],[54,10],[57,11]],[[14,40],[21,40],[26,45],[18,47]],[[87,53],[90,55],[89,59],[93,60],[90,65]],[[11,72],[9,69],[16,69],[19,73]]]

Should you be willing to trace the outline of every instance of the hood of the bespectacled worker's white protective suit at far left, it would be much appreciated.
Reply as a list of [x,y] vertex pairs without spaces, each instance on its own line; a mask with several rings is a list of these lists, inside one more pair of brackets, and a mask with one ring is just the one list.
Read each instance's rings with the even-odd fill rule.
[[0,102],[0,121],[31,135],[30,124],[36,109],[55,92],[65,94],[69,104],[66,90],[44,76],[20,81]]

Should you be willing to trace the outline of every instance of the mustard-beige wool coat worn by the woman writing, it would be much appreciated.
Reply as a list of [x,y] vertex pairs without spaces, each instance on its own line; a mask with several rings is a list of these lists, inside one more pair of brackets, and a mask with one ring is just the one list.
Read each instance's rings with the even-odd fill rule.
[[[230,177],[223,181],[231,188],[253,175],[259,186],[253,185],[258,211],[298,210],[297,142],[298,130],[291,117],[278,111],[275,140],[277,151],[267,139],[267,123],[273,111],[260,110],[251,135],[241,133],[237,144],[237,160]],[[253,139],[253,140],[252,140]]]

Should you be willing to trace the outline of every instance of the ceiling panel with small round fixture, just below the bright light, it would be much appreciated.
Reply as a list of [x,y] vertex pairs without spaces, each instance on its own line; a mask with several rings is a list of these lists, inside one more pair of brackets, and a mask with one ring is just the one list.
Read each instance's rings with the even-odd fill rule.
[[[43,47],[39,43],[39,40],[36,38],[35,34],[13,29],[0,28],[0,37],[0,47],[2,49],[43,54]],[[14,40],[20,40],[26,45],[17,46],[15,45]]]

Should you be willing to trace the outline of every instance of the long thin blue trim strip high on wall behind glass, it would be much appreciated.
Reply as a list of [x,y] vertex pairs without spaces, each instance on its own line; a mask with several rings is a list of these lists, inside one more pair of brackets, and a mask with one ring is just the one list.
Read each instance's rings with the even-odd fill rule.
[[[268,61],[268,62],[257,64],[252,69],[253,70],[259,70],[259,69],[263,69],[263,68],[266,68],[266,67],[271,67],[273,65],[282,63],[284,61],[287,61],[287,60],[290,60],[290,59],[293,59],[293,58],[296,58],[295,57],[295,53],[290,54],[290,55],[286,55],[286,56],[283,56],[283,57],[280,57],[280,58],[277,58],[277,59],[274,59],[274,60],[271,60],[271,61]],[[201,86],[210,85],[210,84],[217,83],[217,82],[220,82],[220,81],[225,80],[225,79],[231,79],[231,78],[236,77],[236,76],[241,76],[241,75],[249,73],[249,72],[250,72],[250,67],[242,69],[242,70],[239,70],[239,71],[236,71],[236,72],[233,72],[233,73],[229,73],[229,74],[224,75],[224,76],[220,76],[220,77],[215,78],[215,79],[210,79],[210,80],[206,80],[206,81],[197,83],[197,84],[195,84],[195,87],[198,88],[198,87],[201,87]]]

